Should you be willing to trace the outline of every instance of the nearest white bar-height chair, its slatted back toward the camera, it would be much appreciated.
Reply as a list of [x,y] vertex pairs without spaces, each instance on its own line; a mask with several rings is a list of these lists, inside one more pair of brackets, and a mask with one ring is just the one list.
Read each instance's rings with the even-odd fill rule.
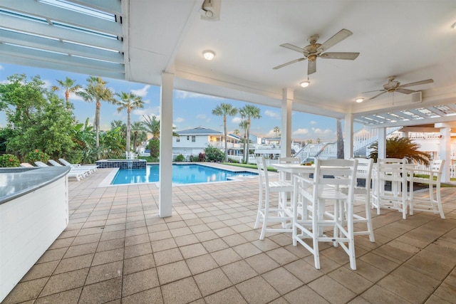
[[[317,269],[318,242],[331,242],[333,246],[341,245],[348,254],[350,267],[356,270],[353,190],[357,165],[356,159],[317,159],[314,179],[294,175],[293,245],[301,243],[309,250]],[[332,236],[324,234],[326,227],[331,227]],[[311,239],[311,245],[304,239]]]

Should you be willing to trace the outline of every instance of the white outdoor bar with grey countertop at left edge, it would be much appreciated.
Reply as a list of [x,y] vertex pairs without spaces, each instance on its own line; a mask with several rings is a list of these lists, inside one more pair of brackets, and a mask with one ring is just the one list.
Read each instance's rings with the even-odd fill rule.
[[68,225],[69,171],[0,169],[0,300]]

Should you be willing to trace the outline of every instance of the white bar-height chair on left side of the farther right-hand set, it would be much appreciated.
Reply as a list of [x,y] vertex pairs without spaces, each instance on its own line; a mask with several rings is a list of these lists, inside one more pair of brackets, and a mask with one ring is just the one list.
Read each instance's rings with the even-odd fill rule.
[[[384,158],[377,159],[375,167],[372,204],[380,214],[380,208],[393,208],[402,212],[403,219],[407,216],[408,173],[407,159]],[[390,190],[385,190],[385,182],[391,184]]]

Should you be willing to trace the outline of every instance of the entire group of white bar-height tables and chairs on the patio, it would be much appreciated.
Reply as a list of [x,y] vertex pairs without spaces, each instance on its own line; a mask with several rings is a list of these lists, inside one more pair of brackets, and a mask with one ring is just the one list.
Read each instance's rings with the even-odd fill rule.
[[[267,232],[291,234],[293,245],[300,243],[314,255],[315,268],[320,268],[318,246],[329,242],[343,248],[356,270],[355,239],[368,235],[375,242],[371,209],[397,209],[406,219],[407,211],[429,211],[442,219],[440,179],[444,160],[437,159],[428,169],[408,164],[406,159],[317,159],[304,166],[299,159],[279,159],[273,166],[279,181],[271,181],[265,159],[257,157],[259,170],[259,205],[254,228],[261,223],[259,239]],[[413,184],[426,184],[429,196],[413,195]],[[372,187],[372,189],[371,189]],[[279,200],[272,206],[270,193]],[[355,195],[357,194],[357,195]],[[355,199],[362,198],[365,210],[353,211]],[[365,229],[360,228],[366,225]],[[356,231],[355,231],[356,228]]]

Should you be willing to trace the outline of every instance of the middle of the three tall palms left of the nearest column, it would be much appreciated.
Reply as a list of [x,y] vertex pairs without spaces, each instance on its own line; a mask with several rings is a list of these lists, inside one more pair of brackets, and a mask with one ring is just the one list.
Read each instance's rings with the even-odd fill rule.
[[100,77],[90,76],[87,78],[88,85],[82,91],[76,92],[86,102],[95,101],[95,147],[100,147],[100,108],[101,102],[115,103],[113,91],[106,88],[107,82]]

